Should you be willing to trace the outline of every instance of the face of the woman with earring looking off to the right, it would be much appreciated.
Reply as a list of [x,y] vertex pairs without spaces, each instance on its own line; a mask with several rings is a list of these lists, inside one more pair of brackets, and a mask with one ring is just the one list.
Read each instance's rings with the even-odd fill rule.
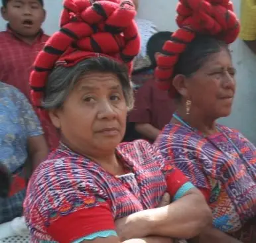
[[235,95],[235,68],[227,50],[209,56],[194,75],[187,78],[187,95],[192,109],[202,111],[214,119],[231,113]]

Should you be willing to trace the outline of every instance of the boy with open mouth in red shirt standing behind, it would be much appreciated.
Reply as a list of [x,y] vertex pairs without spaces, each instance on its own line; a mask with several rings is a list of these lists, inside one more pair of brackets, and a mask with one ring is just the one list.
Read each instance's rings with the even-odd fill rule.
[[[7,30],[0,32],[0,81],[15,86],[31,101],[29,75],[36,55],[49,36],[42,31],[43,0],[2,0]],[[52,124],[41,121],[50,148],[58,145]]]

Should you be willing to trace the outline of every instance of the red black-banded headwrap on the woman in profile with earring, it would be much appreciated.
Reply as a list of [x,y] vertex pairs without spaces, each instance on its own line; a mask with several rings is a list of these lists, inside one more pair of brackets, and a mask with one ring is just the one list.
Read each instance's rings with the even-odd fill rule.
[[195,38],[196,33],[209,34],[229,44],[239,34],[239,21],[233,13],[229,0],[179,0],[176,23],[180,27],[172,34],[172,40],[165,42],[165,55],[157,58],[155,75],[160,89],[169,90],[173,97],[172,74],[180,53]]

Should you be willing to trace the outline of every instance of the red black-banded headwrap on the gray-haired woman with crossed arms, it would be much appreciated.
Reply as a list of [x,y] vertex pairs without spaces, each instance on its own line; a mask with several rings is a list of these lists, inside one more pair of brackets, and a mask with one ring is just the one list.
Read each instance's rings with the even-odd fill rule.
[[60,30],[34,62],[30,77],[33,104],[40,107],[55,65],[74,66],[100,54],[124,62],[131,72],[140,46],[135,15],[132,0],[64,0]]

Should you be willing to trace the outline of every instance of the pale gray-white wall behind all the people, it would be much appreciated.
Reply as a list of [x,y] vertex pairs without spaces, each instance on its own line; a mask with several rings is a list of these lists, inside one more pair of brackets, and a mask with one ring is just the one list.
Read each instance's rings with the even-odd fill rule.
[[[175,30],[175,7],[178,0],[140,0],[139,17],[153,21],[160,30]],[[241,0],[233,0],[235,11],[239,14]],[[62,9],[62,0],[44,0],[47,19],[44,30],[52,34],[58,29],[58,17]],[[0,21],[0,30],[5,29]],[[231,45],[233,62],[237,68],[237,94],[232,114],[220,122],[237,128],[256,144],[256,56],[237,40]]]

